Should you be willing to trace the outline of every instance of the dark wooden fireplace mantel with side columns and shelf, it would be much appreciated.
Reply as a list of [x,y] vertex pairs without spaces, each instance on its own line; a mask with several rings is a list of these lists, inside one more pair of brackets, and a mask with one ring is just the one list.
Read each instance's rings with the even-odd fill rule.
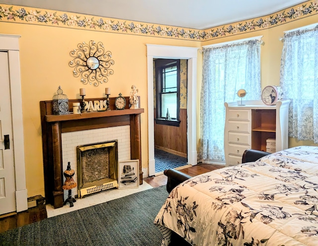
[[[105,98],[85,99],[87,101],[104,100]],[[140,114],[144,109],[113,110],[115,98],[109,98],[111,111],[90,112],[83,114],[53,115],[52,101],[41,101],[43,166],[45,182],[45,198],[54,208],[63,206],[64,191],[62,167],[61,133],[97,129],[104,127],[130,125],[130,143],[132,160],[139,159],[139,184],[143,184],[140,139]],[[125,97],[129,102],[129,97]],[[69,100],[69,105],[80,102],[80,99]],[[70,107],[72,111],[72,107]]]

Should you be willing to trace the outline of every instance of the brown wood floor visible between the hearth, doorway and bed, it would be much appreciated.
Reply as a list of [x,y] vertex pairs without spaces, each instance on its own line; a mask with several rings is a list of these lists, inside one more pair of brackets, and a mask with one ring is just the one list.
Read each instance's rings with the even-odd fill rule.
[[[212,164],[198,164],[189,168],[180,169],[179,171],[191,177],[194,177],[199,174],[204,174],[219,168],[224,168],[224,166]],[[167,183],[167,177],[164,175],[159,175],[155,177],[145,178],[144,181],[152,185],[153,187],[158,187],[161,185],[165,185]]]

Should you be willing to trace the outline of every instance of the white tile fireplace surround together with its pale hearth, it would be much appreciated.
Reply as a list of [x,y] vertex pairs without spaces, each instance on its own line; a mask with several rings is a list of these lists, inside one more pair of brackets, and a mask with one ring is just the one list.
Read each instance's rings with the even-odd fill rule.
[[[130,126],[114,126],[92,130],[81,130],[62,133],[62,159],[63,170],[67,169],[68,162],[71,162],[71,168],[74,169],[74,180],[77,181],[77,153],[76,147],[83,144],[99,143],[111,140],[118,140],[118,161],[130,159]],[[63,179],[65,182],[65,178]],[[78,187],[72,189],[72,197],[78,194]],[[69,213],[78,209],[94,206],[103,202],[117,199],[129,194],[137,193],[153,188],[150,184],[144,182],[136,188],[117,189],[111,188],[101,192],[92,193],[83,198],[76,198],[73,207],[67,203],[61,208],[54,208],[53,205],[47,204],[46,210],[48,218],[64,213]],[[68,190],[64,191],[64,199],[68,198]]]

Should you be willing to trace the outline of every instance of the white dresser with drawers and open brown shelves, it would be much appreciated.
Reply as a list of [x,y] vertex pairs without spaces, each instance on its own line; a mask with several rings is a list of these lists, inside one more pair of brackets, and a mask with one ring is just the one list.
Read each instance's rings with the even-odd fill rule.
[[288,148],[290,100],[279,101],[272,106],[262,101],[243,101],[243,104],[224,104],[224,152],[227,167],[241,164],[246,149],[266,151],[269,142],[276,151]]

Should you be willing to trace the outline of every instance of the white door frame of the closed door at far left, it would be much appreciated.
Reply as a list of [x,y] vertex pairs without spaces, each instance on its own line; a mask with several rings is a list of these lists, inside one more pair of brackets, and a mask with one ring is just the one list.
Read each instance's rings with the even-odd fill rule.
[[19,35],[0,34],[0,51],[5,51],[8,53],[9,62],[12,132],[14,136],[12,146],[15,172],[15,202],[17,212],[28,209],[27,189],[25,182],[24,135],[22,123],[22,98],[19,62],[20,37],[21,36]]

